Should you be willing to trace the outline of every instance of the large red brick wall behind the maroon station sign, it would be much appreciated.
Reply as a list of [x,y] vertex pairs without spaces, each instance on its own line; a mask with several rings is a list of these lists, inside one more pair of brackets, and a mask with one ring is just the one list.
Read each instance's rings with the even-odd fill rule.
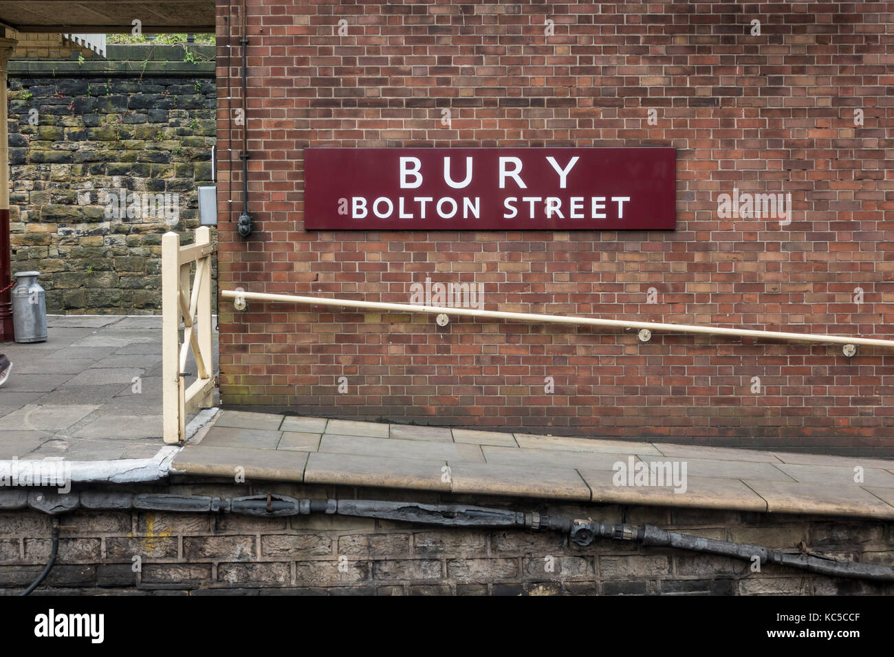
[[[256,232],[235,232],[235,171],[235,210],[220,226],[224,289],[408,303],[410,283],[430,276],[483,282],[488,309],[894,339],[894,4],[248,4]],[[232,108],[241,104],[235,5],[228,38],[218,4],[218,132],[226,148],[232,127],[238,150],[225,99],[229,42]],[[308,146],[673,146],[678,228],[304,232]],[[794,220],[719,218],[718,195],[734,187],[790,192]],[[640,344],[634,333],[456,316],[439,330],[427,316],[258,302],[243,313],[223,304],[220,329],[227,404],[894,453],[894,352],[877,348],[848,359],[839,346],[702,335]]]

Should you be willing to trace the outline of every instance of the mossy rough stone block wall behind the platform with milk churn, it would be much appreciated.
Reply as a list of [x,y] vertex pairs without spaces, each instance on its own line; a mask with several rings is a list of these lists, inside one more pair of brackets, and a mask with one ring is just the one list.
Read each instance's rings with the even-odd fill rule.
[[212,184],[214,48],[189,48],[9,64],[13,273],[41,273],[48,312],[160,312],[161,236],[191,241]]

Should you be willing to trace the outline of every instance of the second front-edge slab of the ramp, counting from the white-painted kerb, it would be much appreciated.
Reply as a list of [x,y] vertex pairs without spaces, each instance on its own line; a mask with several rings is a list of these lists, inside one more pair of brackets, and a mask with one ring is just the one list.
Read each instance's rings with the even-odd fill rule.
[[[279,453],[287,453],[279,451]],[[311,453],[304,481],[308,484],[344,484],[449,491],[443,481],[443,460],[384,459],[356,454]]]

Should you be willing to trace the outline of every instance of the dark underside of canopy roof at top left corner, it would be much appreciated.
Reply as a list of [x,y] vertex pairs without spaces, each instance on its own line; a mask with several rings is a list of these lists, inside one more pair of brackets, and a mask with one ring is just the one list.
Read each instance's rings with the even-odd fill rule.
[[0,23],[20,32],[121,33],[135,20],[144,34],[214,32],[215,0],[0,0]]

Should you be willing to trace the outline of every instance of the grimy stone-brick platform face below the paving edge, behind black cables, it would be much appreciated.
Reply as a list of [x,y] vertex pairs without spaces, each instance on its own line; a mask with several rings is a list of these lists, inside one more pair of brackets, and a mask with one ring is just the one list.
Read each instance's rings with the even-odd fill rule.
[[[433,493],[292,484],[178,484],[153,492],[456,501]],[[791,551],[804,541],[812,552],[894,564],[892,523],[657,507],[547,507],[536,501],[500,498],[479,498],[474,503],[615,523],[649,523]],[[58,521],[76,529],[63,530],[56,565],[39,589],[44,593],[109,594],[134,588],[181,594],[894,592],[890,583],[814,576],[771,565],[754,573],[745,561],[608,539],[581,548],[549,532],[433,528],[325,515],[249,518],[151,511],[75,510]],[[38,576],[49,555],[52,522],[53,518],[38,511],[0,510],[0,594],[16,594]],[[134,557],[139,557],[136,570]]]

